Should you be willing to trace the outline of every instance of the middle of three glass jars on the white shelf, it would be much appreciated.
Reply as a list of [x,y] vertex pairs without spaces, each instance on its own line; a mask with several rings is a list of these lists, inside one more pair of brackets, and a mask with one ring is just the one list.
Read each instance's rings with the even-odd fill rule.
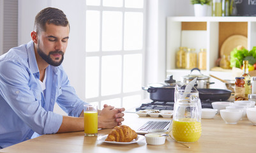
[[186,69],[197,68],[197,53],[194,48],[188,48],[186,52]]

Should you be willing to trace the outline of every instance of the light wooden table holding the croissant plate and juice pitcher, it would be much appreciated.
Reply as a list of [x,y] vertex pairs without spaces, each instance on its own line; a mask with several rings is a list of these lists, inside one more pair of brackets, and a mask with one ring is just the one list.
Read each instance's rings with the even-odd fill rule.
[[[139,128],[147,120],[170,120],[163,118],[139,117],[125,113],[123,124]],[[98,131],[98,136],[107,135],[110,129]],[[248,119],[239,120],[235,125],[225,124],[216,115],[215,119],[202,119],[202,135],[198,142],[186,143],[190,148],[167,139],[164,145],[147,145],[146,140],[130,145],[115,145],[97,141],[97,137],[84,137],[83,132],[43,135],[27,140],[0,152],[256,152],[256,126]]]

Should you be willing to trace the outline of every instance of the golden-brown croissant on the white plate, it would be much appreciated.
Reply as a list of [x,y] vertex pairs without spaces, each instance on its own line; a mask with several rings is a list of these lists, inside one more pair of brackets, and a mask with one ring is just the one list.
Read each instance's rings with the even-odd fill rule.
[[131,142],[137,138],[137,133],[129,126],[116,126],[105,139],[109,142]]

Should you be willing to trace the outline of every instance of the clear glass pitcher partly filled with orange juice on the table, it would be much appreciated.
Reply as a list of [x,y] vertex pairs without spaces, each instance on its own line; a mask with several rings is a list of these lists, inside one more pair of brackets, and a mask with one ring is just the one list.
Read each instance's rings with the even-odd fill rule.
[[177,84],[174,101],[172,136],[177,142],[197,142],[202,133],[199,92],[190,84]]

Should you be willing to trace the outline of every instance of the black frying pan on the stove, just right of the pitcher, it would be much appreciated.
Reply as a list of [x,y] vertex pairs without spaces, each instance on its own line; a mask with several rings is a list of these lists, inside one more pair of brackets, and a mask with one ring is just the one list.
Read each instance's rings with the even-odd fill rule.
[[227,89],[197,89],[201,101],[226,101],[230,98],[231,92]]

